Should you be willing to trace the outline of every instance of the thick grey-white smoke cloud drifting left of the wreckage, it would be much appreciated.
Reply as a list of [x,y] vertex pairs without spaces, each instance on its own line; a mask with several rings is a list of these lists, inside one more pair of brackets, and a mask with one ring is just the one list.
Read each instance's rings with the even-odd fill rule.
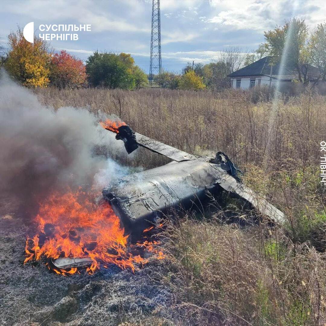
[[[127,169],[107,155],[111,151],[124,156],[123,142],[98,122],[86,109],[42,107],[35,95],[2,72],[0,191],[29,205],[53,190],[103,187],[126,174]],[[105,155],[98,155],[103,148]]]

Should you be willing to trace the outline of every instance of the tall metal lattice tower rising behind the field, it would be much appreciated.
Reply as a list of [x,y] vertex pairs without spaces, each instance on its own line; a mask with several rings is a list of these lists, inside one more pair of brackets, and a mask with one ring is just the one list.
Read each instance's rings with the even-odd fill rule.
[[161,74],[161,14],[160,0],[153,0],[152,7],[152,35],[151,35],[151,62],[149,66],[149,84],[152,85],[153,75]]

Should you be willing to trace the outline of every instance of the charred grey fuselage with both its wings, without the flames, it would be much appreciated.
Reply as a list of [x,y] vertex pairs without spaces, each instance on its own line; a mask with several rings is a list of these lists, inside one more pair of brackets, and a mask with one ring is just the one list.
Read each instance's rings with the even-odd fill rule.
[[[126,126],[123,126],[126,128]],[[155,224],[172,210],[188,209],[204,200],[205,192],[222,188],[243,199],[262,215],[274,221],[283,213],[234,178],[223,166],[210,157],[197,157],[161,142],[135,133],[139,146],[173,159],[164,166],[130,174],[114,185],[103,189],[103,196],[119,216],[126,233],[138,234]],[[121,138],[120,138],[121,139]],[[124,138],[129,148],[128,138]],[[134,140],[132,140],[134,141]]]

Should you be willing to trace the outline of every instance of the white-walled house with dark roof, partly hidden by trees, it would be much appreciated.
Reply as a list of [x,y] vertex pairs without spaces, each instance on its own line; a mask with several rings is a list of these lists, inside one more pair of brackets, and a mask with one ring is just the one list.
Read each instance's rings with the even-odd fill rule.
[[[231,78],[231,87],[248,89],[261,85],[275,86],[276,82],[280,82],[281,86],[283,86],[299,79],[298,72],[295,68],[284,67],[280,69],[281,65],[279,62],[271,66],[271,59],[271,56],[266,56],[244,68],[232,72],[228,75]],[[318,69],[309,65],[309,80],[316,80],[318,75]]]

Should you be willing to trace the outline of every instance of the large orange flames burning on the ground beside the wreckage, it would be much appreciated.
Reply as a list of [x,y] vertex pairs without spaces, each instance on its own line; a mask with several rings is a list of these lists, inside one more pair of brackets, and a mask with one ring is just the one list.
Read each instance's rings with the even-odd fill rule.
[[[53,193],[40,204],[37,216],[37,234],[26,240],[25,263],[36,259],[91,258],[92,265],[87,268],[93,274],[100,263],[104,267],[113,263],[122,269],[135,271],[135,263],[144,264],[146,259],[132,255],[127,250],[127,238],[120,227],[119,218],[114,214],[109,203],[96,204],[94,194],[78,189],[65,194]],[[153,252],[153,245],[145,241],[137,247],[148,247]],[[157,258],[163,254],[156,252]],[[50,268],[50,267],[49,267]],[[69,271],[52,269],[58,274],[74,274],[77,268]]]

